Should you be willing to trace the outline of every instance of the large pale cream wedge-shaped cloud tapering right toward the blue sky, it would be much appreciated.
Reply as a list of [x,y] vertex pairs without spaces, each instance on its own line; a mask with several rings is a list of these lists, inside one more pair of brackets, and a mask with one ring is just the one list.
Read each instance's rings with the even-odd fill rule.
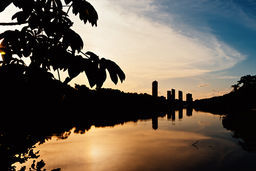
[[[172,23],[165,25],[149,19],[145,16],[148,11],[154,14],[160,11],[152,1],[104,2],[104,7],[100,5],[102,1],[94,2],[102,13],[99,26],[84,33],[84,37],[87,35],[90,44],[98,46],[100,54],[121,58],[118,61],[127,66],[127,74],[151,79],[191,77],[230,68],[245,59],[211,33],[190,28],[193,37],[189,37],[183,34],[184,28],[179,28],[182,30],[179,32]],[[172,16],[163,12],[158,15],[158,18]],[[90,38],[96,34],[97,40]]]

